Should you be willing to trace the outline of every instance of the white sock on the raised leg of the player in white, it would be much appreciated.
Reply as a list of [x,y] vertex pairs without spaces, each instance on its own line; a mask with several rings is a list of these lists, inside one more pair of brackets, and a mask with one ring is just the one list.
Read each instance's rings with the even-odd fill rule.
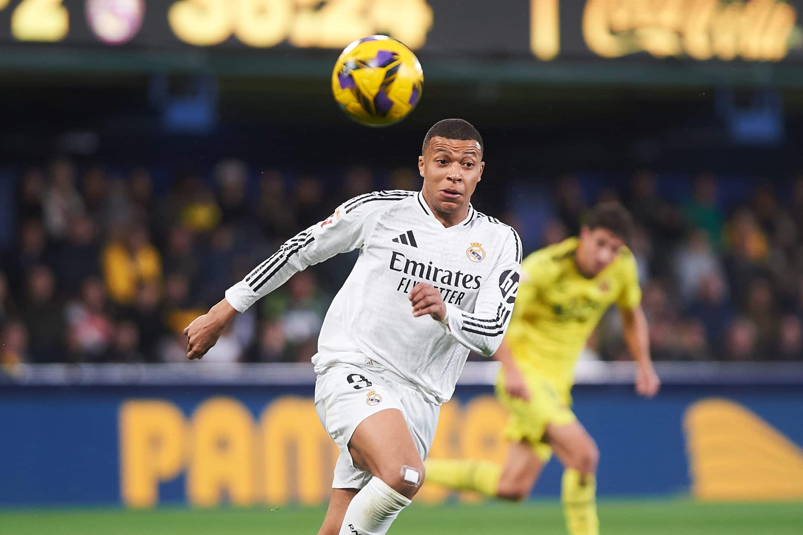
[[410,500],[385,481],[372,477],[346,509],[340,535],[385,535],[407,505]]

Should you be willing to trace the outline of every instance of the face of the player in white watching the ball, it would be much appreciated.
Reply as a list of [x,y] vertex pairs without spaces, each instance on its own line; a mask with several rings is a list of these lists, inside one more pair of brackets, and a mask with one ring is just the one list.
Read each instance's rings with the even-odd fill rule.
[[418,156],[418,172],[424,177],[424,197],[440,213],[458,213],[483,176],[475,140],[446,140],[435,136],[423,156]]

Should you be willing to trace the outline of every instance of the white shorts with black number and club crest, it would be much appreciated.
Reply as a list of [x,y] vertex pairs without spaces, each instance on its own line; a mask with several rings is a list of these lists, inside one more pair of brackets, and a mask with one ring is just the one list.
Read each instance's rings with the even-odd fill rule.
[[363,488],[371,473],[355,467],[349,453],[349,440],[362,420],[389,408],[402,411],[424,460],[438,427],[441,407],[427,402],[420,392],[391,379],[383,370],[336,364],[316,379],[315,408],[320,423],[340,448],[332,488]]

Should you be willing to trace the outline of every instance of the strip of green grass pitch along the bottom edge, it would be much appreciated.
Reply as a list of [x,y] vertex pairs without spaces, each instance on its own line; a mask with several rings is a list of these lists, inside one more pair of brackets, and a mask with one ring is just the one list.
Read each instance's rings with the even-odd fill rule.
[[[324,509],[0,509],[3,535],[306,535]],[[803,504],[602,501],[605,535],[801,535]],[[563,535],[560,505],[413,506],[391,535]]]

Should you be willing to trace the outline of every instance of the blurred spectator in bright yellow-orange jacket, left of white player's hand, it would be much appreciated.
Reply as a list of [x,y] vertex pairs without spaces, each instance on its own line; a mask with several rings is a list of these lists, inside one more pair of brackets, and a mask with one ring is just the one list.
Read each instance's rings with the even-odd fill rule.
[[119,225],[103,252],[106,289],[114,302],[128,306],[142,282],[161,282],[161,255],[143,225]]

